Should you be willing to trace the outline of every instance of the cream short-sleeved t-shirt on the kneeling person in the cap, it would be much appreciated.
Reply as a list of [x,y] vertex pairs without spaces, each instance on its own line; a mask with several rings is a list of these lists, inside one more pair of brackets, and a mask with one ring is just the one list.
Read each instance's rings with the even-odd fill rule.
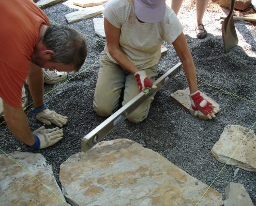
[[[113,26],[121,29],[119,44],[129,60],[139,69],[156,65],[161,57],[162,41],[171,44],[182,33],[183,26],[167,5],[164,20],[159,23],[138,21],[133,0],[109,0],[103,10]],[[106,53],[114,62],[108,51]]]

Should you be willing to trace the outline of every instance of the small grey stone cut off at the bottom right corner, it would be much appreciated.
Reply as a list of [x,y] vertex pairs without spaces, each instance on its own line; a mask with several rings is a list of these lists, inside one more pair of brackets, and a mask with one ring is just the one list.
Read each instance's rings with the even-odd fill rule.
[[253,206],[243,184],[230,182],[225,188],[224,206]]

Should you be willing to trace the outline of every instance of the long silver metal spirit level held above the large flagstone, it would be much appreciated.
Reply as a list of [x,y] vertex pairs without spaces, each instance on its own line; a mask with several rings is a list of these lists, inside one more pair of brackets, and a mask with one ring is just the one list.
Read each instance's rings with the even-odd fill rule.
[[155,92],[160,90],[163,85],[171,80],[176,74],[178,74],[180,70],[182,70],[182,64],[177,63],[167,73],[163,74],[154,82],[154,84],[157,85],[157,89],[146,89],[144,92],[139,93],[129,102],[127,102],[127,104],[125,104],[122,108],[120,108],[109,118],[107,118],[98,127],[89,132],[86,136],[84,136],[84,138],[82,139],[82,151],[86,152],[98,142],[100,142],[104,138],[104,136],[111,132],[117,125],[122,123],[132,111],[139,107]]

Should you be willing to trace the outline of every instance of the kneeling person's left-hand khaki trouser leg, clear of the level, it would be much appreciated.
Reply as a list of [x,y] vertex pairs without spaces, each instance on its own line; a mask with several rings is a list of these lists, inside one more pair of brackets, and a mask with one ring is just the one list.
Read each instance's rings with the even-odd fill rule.
[[122,68],[113,63],[106,53],[100,57],[100,70],[94,92],[93,107],[100,116],[110,116],[119,105],[119,99],[125,83]]

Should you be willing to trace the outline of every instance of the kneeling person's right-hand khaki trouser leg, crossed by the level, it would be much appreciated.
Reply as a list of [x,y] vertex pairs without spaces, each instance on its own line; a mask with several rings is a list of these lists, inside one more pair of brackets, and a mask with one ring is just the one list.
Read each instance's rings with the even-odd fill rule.
[[[157,76],[157,65],[152,66],[150,68],[146,68],[145,72],[150,81],[154,82],[155,77]],[[137,83],[136,78],[130,74],[126,77],[125,82],[125,91],[124,91],[124,101],[122,105],[124,106],[128,101],[130,101],[133,97],[139,94],[139,85]],[[153,97],[149,97],[146,101],[144,101],[137,109],[135,109],[128,117],[128,121],[133,123],[139,123],[143,121],[147,117],[150,104],[153,100]]]

